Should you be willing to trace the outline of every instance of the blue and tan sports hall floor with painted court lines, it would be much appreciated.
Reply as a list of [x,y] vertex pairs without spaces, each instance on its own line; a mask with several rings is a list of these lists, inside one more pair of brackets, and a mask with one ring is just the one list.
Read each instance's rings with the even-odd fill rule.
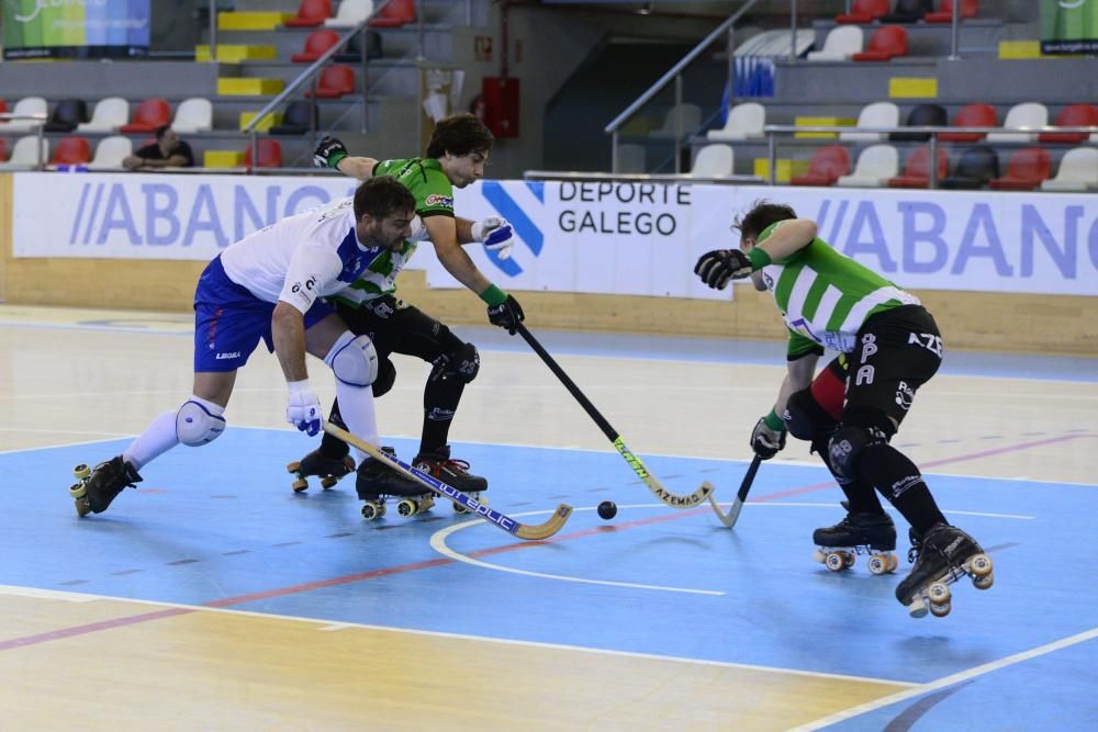
[[[549,541],[444,502],[366,522],[350,480],[293,494],[284,465],[316,439],[283,423],[262,351],[220,440],[78,519],[72,466],[188,394],[190,323],[0,305],[4,730],[1098,729],[1098,360],[948,352],[895,443],[996,582],[914,620],[901,575],[811,561],[841,496],[803,443],[733,530],[668,508],[488,328],[456,328],[482,370],[453,452],[519,520],[575,506]],[[533,331],[670,489],[710,481],[727,508],[780,345]],[[379,419],[408,459],[427,367],[396,365]]]

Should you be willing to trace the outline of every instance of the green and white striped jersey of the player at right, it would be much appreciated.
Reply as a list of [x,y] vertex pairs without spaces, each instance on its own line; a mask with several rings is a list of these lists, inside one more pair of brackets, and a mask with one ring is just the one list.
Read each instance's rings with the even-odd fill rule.
[[[757,244],[784,223],[768,226]],[[789,329],[791,359],[819,352],[820,347],[850,353],[859,328],[871,315],[920,304],[915,295],[839,254],[819,237],[764,267],[762,278]]]

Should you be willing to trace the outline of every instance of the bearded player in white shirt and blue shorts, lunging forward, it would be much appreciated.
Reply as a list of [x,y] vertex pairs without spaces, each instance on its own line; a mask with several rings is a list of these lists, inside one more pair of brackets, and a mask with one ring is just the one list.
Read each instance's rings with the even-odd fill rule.
[[393,178],[374,178],[360,185],[354,199],[284,218],[215,257],[194,292],[191,396],[154,419],[121,455],[90,475],[78,469],[81,481],[71,488],[77,513],[107,510],[122,488],[142,481],[137,471],[180,442],[198,447],[217,439],[225,429],[236,371],[260,339],[282,367],[290,424],[313,436],[324,418],[309,383],[309,352],[335,373],[350,431],[377,444],[373,344],[348,330],[320,299],[350,286],[371,261],[403,247],[414,211],[415,199],[406,188]]

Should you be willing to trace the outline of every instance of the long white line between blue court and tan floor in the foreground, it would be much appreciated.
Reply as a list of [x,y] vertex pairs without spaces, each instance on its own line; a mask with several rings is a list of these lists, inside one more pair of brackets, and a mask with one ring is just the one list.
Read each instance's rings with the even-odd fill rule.
[[[662,506],[662,504],[660,504]],[[217,608],[205,605],[184,605],[182,603],[165,603],[160,600],[134,599],[131,597],[112,597],[109,595],[85,595],[87,599],[75,599],[72,596],[81,593],[68,593],[56,589],[36,589],[33,587],[15,587],[13,585],[0,585],[0,595],[11,595],[15,597],[33,597],[40,599],[58,599],[66,601],[93,601],[109,600],[116,603],[133,603],[157,608],[179,608],[193,612],[223,612],[225,615],[244,616],[247,618],[258,618],[261,620],[289,620],[293,622],[305,622],[321,626],[317,630],[335,630],[358,628],[362,630],[379,630],[390,633],[406,633],[408,635],[426,635],[428,638],[445,638],[459,641],[479,641],[483,643],[496,643],[500,645],[517,645],[520,647],[548,649],[550,651],[571,651],[575,653],[586,653],[591,655],[617,656],[624,658],[643,658],[646,661],[671,661],[674,663],[690,664],[692,666],[712,666],[716,668],[737,668],[742,671],[755,671],[768,674],[786,674],[791,676],[804,676],[808,678],[833,678],[841,682],[858,682],[860,684],[890,684],[892,686],[914,687],[918,686],[914,682],[904,682],[892,678],[876,678],[871,676],[853,676],[850,674],[830,674],[822,671],[802,671],[799,668],[782,668],[778,666],[760,666],[757,664],[735,663],[731,661],[709,661],[706,658],[686,658],[684,656],[659,655],[656,653],[638,653],[636,651],[616,651],[613,649],[593,649],[583,645],[569,645],[565,643],[545,643],[541,641],[525,641],[511,638],[492,638],[490,635],[473,635],[471,633],[448,633],[440,630],[421,630],[418,628],[397,628],[394,626],[372,626],[363,622],[325,622],[316,618],[304,618],[301,616],[279,615],[273,612],[256,612],[255,610],[239,610],[236,608]]]

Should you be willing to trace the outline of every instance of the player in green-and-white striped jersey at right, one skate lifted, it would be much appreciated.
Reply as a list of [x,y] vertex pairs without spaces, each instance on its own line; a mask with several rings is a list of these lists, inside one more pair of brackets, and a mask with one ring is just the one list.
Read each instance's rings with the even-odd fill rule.
[[[788,370],[774,408],[752,431],[751,446],[771,458],[788,430],[809,440],[834,475],[849,513],[838,525],[817,530],[814,540],[821,547],[894,549],[896,529],[875,487],[911,525],[917,559],[896,597],[914,615],[926,615],[928,586],[946,576],[952,582],[954,571],[978,575],[977,586],[990,586],[990,560],[972,537],[949,525],[919,469],[889,444],[916,391],[941,364],[942,338],[930,313],[912,294],[832,249],[816,236],[815,222],[797,218],[787,205],[759,202],[735,226],[740,250],[703,255],[694,271],[716,289],[750,277],[758,290],[773,294],[782,312]],[[809,390],[825,348],[847,358],[839,421],[816,405]],[[944,615],[948,604],[942,607],[930,609]]]

